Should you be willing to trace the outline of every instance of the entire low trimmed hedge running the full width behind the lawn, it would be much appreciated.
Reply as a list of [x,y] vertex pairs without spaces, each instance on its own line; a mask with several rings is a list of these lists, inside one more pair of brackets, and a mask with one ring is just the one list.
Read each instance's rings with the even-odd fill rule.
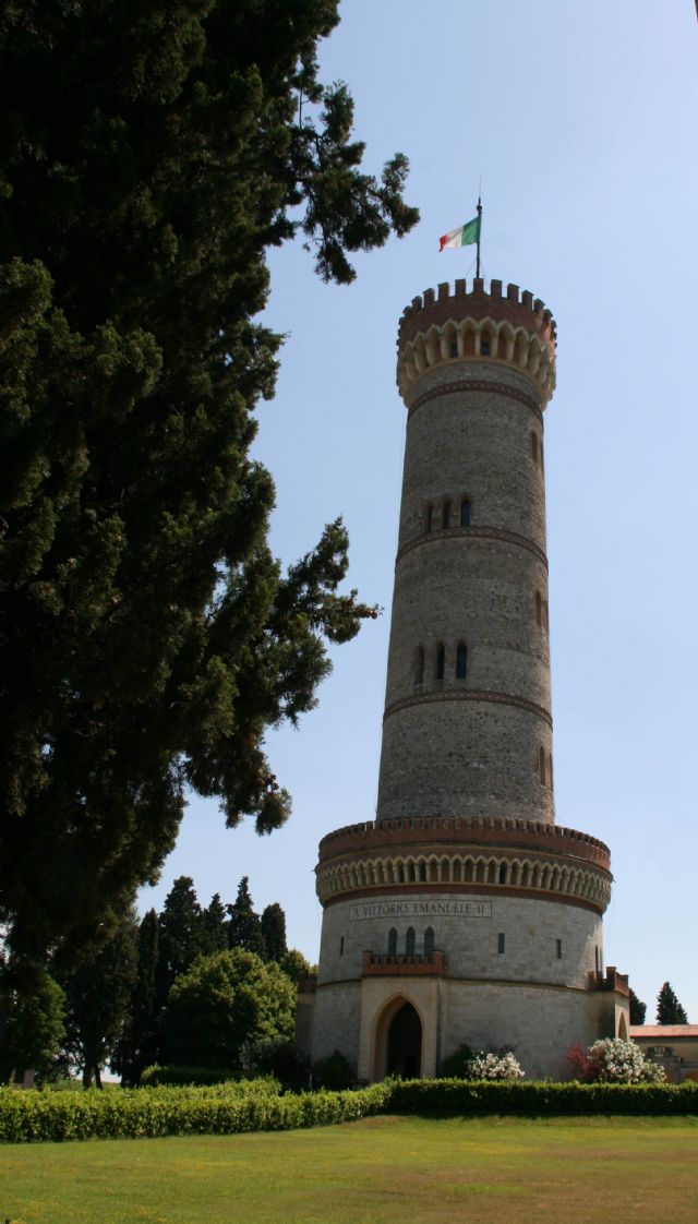
[[698,1114],[698,1084],[385,1081],[356,1092],[278,1095],[273,1082],[82,1093],[0,1088],[0,1141],[234,1135],[354,1121],[371,1114]]

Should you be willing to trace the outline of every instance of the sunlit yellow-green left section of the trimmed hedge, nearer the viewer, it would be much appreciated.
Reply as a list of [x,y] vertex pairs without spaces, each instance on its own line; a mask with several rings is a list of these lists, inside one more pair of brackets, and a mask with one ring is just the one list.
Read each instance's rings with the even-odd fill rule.
[[[233,1086],[236,1087],[236,1086]],[[211,1088],[125,1088],[81,1095],[0,1089],[0,1141],[27,1143],[164,1135],[235,1135],[354,1121],[385,1111],[387,1084],[300,1095],[218,1093]]]

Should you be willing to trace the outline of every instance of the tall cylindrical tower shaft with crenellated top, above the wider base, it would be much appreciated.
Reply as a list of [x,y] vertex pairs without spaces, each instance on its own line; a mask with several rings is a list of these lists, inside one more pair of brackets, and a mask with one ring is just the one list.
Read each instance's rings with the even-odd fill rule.
[[555,323],[501,282],[404,312],[408,409],[377,819],[551,823],[542,412]]

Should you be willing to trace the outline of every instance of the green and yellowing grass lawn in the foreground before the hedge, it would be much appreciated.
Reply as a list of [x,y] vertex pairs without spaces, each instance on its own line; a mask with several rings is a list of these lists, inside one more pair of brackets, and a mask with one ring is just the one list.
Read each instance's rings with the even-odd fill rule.
[[371,1118],[0,1149],[21,1224],[696,1224],[698,1119]]

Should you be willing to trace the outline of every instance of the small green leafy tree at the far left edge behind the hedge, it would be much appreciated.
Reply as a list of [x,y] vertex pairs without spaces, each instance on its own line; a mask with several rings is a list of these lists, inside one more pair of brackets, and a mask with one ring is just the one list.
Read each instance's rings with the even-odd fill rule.
[[4,972],[1,1011],[0,1077],[6,1081],[11,1071],[21,1076],[27,1070],[36,1071],[39,1078],[49,1075],[65,1033],[65,994],[58,982],[39,973],[32,994],[22,995],[11,988]]

